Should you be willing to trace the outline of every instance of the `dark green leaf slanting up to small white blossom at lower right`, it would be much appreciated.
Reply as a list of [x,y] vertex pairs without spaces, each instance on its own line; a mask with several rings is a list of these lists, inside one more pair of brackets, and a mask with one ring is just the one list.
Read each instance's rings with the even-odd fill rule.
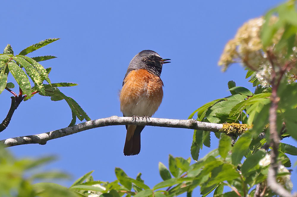
[[265,151],[258,150],[253,155],[250,155],[249,157],[247,157],[247,159],[244,161],[244,163],[241,166],[241,173],[243,175],[247,174],[251,169],[253,169],[259,164],[259,161],[263,159],[265,155],[266,155]]

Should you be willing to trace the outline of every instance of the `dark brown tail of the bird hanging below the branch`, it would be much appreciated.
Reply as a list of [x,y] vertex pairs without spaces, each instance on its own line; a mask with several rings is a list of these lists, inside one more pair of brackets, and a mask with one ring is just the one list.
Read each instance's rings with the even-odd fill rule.
[[140,152],[140,133],[144,126],[128,125],[124,155],[138,155]]

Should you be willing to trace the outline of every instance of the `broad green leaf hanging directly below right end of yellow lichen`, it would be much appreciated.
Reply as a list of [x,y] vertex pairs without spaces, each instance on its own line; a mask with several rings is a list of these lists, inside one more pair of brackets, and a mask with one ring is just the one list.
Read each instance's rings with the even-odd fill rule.
[[249,133],[249,131],[245,132],[242,134],[239,139],[235,142],[233,146],[233,151],[232,151],[232,164],[234,166],[237,166],[242,157],[247,154],[247,151],[249,150],[249,144],[252,141],[252,136]]

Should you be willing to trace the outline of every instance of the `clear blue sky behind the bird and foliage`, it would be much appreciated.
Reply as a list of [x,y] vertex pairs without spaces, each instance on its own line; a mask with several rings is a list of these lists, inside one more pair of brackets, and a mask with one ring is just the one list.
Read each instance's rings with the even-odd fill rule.
[[[4,1],[0,48],[9,43],[19,53],[41,40],[61,38],[29,56],[58,57],[41,63],[52,67],[52,82],[79,84],[60,90],[74,98],[91,119],[121,116],[118,93],[127,66],[138,52],[154,50],[172,59],[163,67],[164,98],[154,117],[187,119],[204,103],[228,96],[230,80],[254,90],[244,79],[240,65],[222,73],[217,62],[239,26],[280,2]],[[7,91],[0,96],[0,119],[10,107],[10,96]],[[37,95],[21,103],[1,139],[67,127],[70,120],[71,111],[65,101],[53,102]],[[91,170],[95,170],[96,180],[113,181],[114,168],[120,167],[131,177],[141,172],[145,183],[152,187],[162,180],[158,162],[168,166],[169,154],[190,157],[192,134],[187,129],[147,126],[141,134],[141,152],[133,157],[123,155],[124,126],[84,131],[49,141],[45,146],[9,149],[17,157],[58,155],[59,160],[47,168],[72,174],[72,181],[64,182],[68,186]],[[203,148],[200,156],[214,148],[217,140],[212,136],[211,148]],[[295,157],[291,159],[292,163],[296,161]],[[296,177],[296,171],[292,177]],[[297,184],[297,178],[293,183]]]

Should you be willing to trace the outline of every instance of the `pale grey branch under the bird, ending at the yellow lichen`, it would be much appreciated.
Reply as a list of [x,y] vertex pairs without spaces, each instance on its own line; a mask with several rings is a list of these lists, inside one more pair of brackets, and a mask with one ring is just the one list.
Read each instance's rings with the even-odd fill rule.
[[75,124],[71,127],[66,127],[63,129],[50,131],[47,133],[8,138],[5,140],[1,140],[0,142],[5,144],[8,147],[18,146],[22,144],[44,145],[49,140],[61,138],[61,137],[78,133],[81,131],[85,131],[85,130],[89,130],[97,127],[105,127],[105,126],[111,126],[111,125],[125,125],[125,124],[185,128],[185,129],[195,129],[195,130],[225,133],[225,131],[221,131],[223,124],[199,122],[195,119],[179,120],[179,119],[165,119],[165,118],[149,118],[148,121],[146,121],[146,119],[140,118],[139,120],[132,121],[132,117],[111,116],[108,118],[102,118],[102,119],[83,122],[80,124]]

